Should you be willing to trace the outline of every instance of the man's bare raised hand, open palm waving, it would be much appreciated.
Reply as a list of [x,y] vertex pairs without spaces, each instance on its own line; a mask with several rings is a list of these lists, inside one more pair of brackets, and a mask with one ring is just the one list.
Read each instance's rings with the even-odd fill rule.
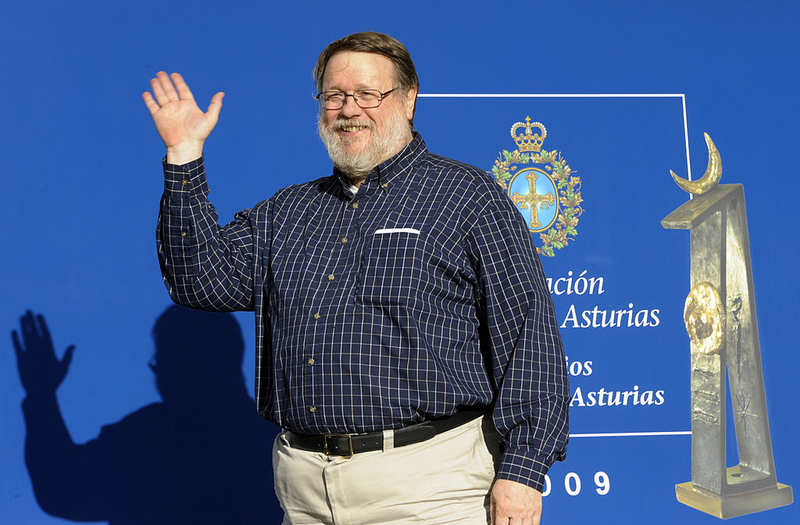
[[214,95],[204,113],[179,73],[168,76],[159,71],[150,80],[150,87],[152,95],[146,91],[142,99],[167,146],[167,162],[185,164],[199,158],[203,143],[217,124],[225,93]]

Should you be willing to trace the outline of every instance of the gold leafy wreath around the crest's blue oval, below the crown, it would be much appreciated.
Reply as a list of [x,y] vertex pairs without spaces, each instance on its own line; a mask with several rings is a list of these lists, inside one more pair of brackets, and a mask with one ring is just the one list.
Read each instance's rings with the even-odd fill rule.
[[[555,256],[555,250],[567,246],[570,241],[575,240],[578,235],[578,217],[583,214],[581,203],[581,179],[573,176],[576,173],[569,167],[567,161],[563,159],[558,150],[539,153],[521,153],[519,150],[500,152],[500,156],[494,161],[492,166],[492,176],[508,192],[508,181],[514,175],[517,164],[544,164],[545,170],[553,178],[558,191],[558,202],[561,204],[561,211],[555,224],[539,234],[542,246],[536,250],[548,257]],[[533,210],[531,210],[533,213]]]

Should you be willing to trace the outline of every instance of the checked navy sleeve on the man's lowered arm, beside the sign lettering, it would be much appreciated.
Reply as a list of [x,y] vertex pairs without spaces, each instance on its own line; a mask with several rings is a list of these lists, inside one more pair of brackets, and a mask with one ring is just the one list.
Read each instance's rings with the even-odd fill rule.
[[[494,183],[490,183],[494,186]],[[481,343],[496,391],[498,478],[539,491],[569,440],[569,384],[561,335],[541,262],[522,215],[495,188],[468,234],[479,276]]]

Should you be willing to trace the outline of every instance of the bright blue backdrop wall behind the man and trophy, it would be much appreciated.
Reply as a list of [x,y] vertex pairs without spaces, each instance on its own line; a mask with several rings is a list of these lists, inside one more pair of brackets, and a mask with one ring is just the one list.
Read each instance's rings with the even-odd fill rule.
[[[511,124],[530,116],[547,126],[546,148],[562,151],[583,180],[586,211],[574,243],[545,270],[554,279],[587,270],[606,288],[595,297],[556,297],[559,315],[573,304],[581,311],[632,302],[658,309],[661,319],[640,330],[565,327],[570,361],[594,364],[591,376],[572,378],[573,390],[639,385],[666,398],[648,408],[574,407],[573,432],[687,431],[688,234],[659,225],[686,200],[668,175],[687,172],[685,100],[693,173],[705,169],[706,131],[722,153],[722,182],[745,186],[778,479],[798,490],[798,15],[789,1],[3,4],[0,214],[8,233],[0,319],[10,332],[26,309],[43,312],[58,352],[77,345],[58,392],[75,442],[159,400],[147,363],[153,323],[169,305],[153,233],[163,145],[140,94],[161,69],[180,71],[202,104],[227,93],[206,147],[223,220],[329,171],[315,136],[310,71],[325,45],[350,32],[403,41],[423,95],[683,94],[427,96],[416,125],[434,152],[487,170],[498,151],[514,148]],[[252,389],[253,321],[237,318]],[[24,391],[10,339],[2,348],[0,521],[61,523],[33,496]],[[611,480],[605,495],[595,490],[599,471]],[[582,483],[575,496],[564,487],[569,477],[574,492],[569,473]],[[674,484],[690,477],[689,436],[574,437],[567,462],[551,471],[545,522],[716,522],[675,500]],[[793,505],[737,522],[798,516]]]

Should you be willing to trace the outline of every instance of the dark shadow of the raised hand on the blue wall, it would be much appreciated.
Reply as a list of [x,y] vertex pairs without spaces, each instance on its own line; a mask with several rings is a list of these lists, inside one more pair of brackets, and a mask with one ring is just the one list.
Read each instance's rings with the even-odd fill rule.
[[67,375],[75,345],[69,346],[64,357],[58,359],[43,315],[34,317],[28,310],[19,322],[22,340],[16,330],[12,330],[11,340],[22,386],[29,396],[55,394]]

